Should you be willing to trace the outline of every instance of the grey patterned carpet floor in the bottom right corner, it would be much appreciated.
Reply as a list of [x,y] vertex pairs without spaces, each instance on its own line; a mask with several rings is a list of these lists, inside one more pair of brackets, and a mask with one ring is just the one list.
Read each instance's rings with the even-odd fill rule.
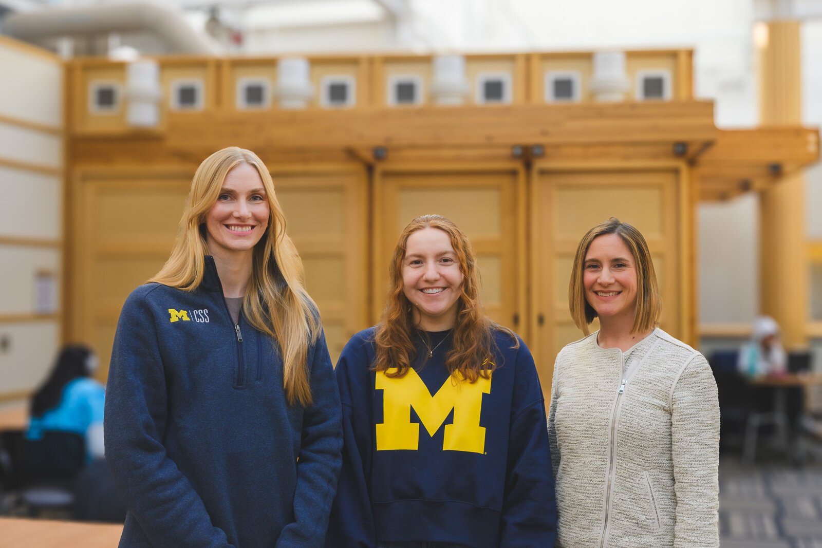
[[822,548],[822,464],[719,466],[722,548]]

